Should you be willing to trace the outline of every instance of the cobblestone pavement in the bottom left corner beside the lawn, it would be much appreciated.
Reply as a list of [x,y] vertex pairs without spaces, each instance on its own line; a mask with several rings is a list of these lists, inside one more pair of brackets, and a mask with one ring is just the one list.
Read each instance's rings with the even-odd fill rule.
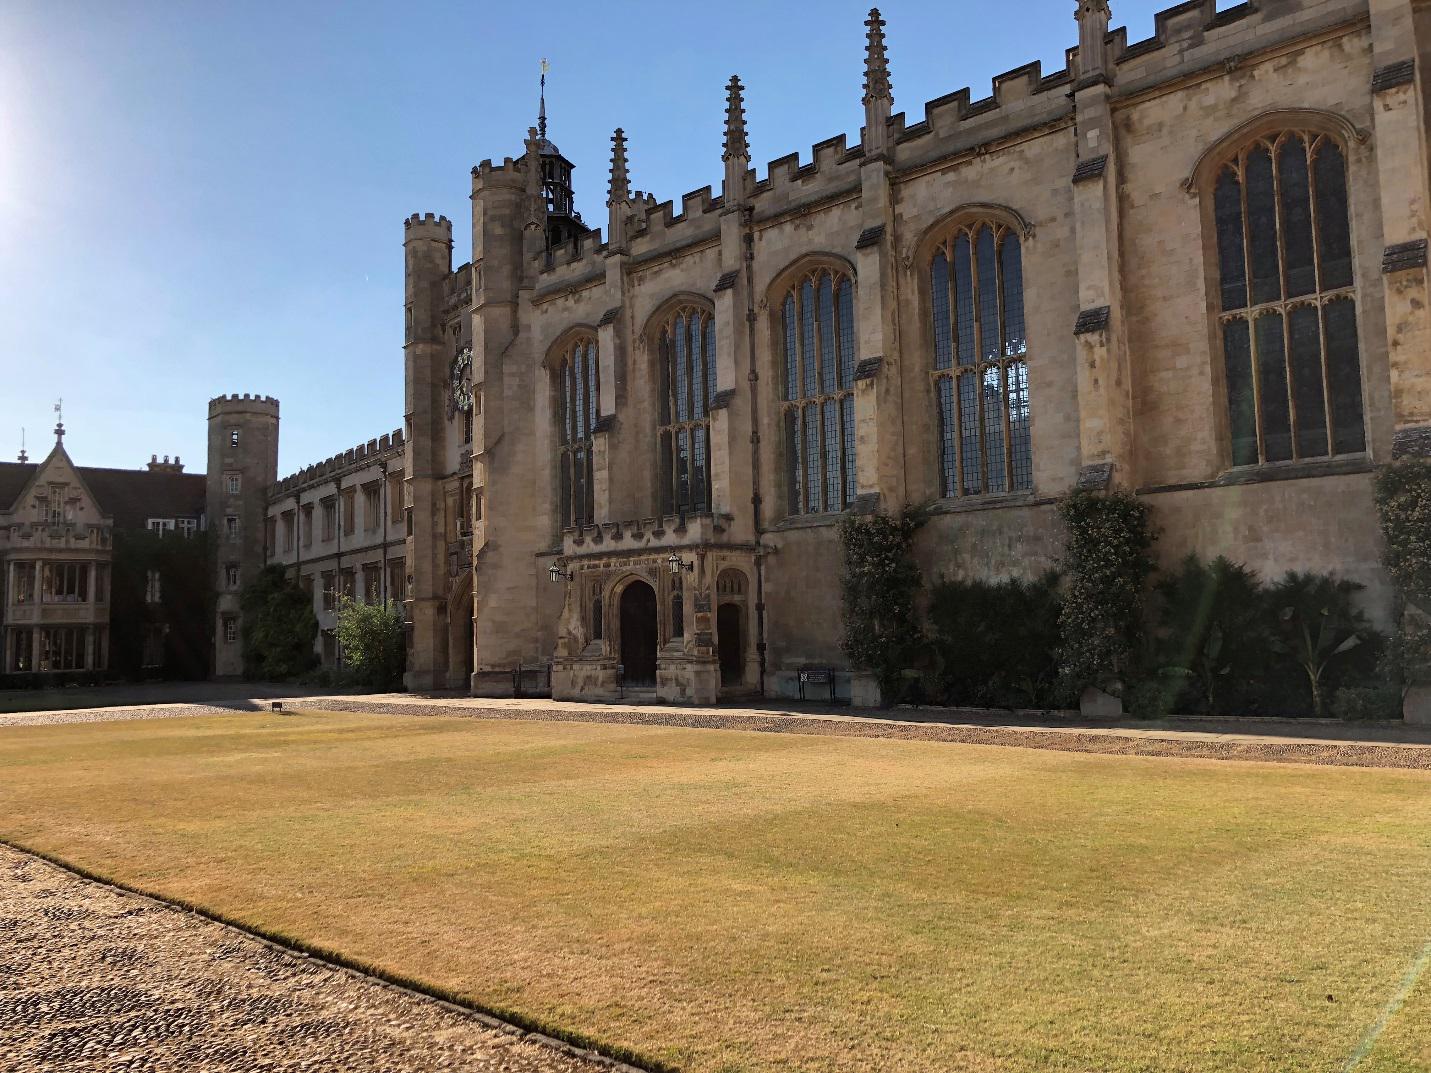
[[571,1052],[0,846],[7,1073],[628,1069]]

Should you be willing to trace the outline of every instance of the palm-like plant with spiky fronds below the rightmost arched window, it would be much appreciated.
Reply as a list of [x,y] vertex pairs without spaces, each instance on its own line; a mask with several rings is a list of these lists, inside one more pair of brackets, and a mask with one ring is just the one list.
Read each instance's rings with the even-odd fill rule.
[[[1312,690],[1312,712],[1325,717],[1331,680],[1339,670],[1351,671],[1349,654],[1375,661],[1379,635],[1367,615],[1352,602],[1361,589],[1355,581],[1327,574],[1288,571],[1266,594],[1272,612],[1272,650],[1291,658],[1307,675]],[[1367,658],[1355,662],[1367,662]]]

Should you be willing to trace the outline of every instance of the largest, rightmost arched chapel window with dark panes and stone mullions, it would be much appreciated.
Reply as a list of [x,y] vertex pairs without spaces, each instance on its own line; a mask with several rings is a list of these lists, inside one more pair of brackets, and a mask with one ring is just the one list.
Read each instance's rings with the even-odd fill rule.
[[1342,147],[1259,137],[1212,205],[1232,465],[1365,451]]

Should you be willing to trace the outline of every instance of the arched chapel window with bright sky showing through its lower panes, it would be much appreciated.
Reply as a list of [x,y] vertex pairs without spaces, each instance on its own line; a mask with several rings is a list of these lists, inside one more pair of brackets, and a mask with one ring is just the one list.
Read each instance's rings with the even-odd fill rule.
[[929,263],[940,495],[1033,486],[1023,255],[1002,223],[956,227]]

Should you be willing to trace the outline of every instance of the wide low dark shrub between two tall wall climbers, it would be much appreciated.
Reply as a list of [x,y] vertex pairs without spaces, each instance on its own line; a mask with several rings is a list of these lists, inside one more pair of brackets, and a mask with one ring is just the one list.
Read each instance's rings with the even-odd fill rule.
[[930,644],[943,704],[1050,708],[1059,692],[1059,575],[949,581],[930,589]]

